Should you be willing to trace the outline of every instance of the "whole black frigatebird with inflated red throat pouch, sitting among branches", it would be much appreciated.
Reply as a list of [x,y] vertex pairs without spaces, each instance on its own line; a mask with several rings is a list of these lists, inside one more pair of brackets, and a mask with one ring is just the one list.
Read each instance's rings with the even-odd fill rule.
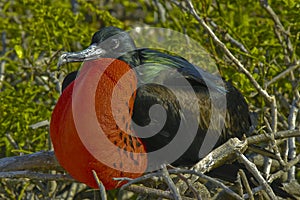
[[[113,189],[122,185],[114,177],[135,178],[163,163],[192,166],[207,153],[204,143],[213,140],[215,148],[250,131],[248,105],[231,83],[180,56],[136,48],[119,28],[100,29],[87,49],[62,54],[58,64],[69,62],[83,67],[63,83],[51,140],[61,166],[91,187],[97,187],[92,170]],[[95,138],[94,118],[119,150],[106,152],[106,139]]]

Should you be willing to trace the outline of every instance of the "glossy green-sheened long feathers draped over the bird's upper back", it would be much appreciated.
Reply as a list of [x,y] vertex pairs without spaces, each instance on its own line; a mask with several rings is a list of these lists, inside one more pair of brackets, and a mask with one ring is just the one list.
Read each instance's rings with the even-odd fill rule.
[[[166,80],[166,76],[170,75],[170,70],[176,70],[178,76],[183,76],[191,85],[205,85],[209,90],[215,90],[221,94],[226,94],[224,82],[221,77],[210,74],[205,70],[197,67],[186,59],[169,55],[152,49],[137,49],[135,50],[140,57],[140,67],[137,69],[137,75],[144,83],[153,83],[159,78]],[[173,73],[173,79],[176,77]],[[169,78],[170,79],[170,78]]]

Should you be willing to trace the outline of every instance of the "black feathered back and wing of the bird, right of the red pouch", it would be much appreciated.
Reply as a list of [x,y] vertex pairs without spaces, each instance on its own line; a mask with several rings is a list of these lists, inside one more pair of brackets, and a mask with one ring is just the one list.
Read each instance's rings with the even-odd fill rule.
[[[188,146],[174,148],[175,152],[170,152],[178,155],[172,164],[191,166],[204,156],[200,153],[204,140],[206,145],[211,142],[207,148],[212,149],[231,137],[241,139],[243,134],[249,132],[251,120],[248,104],[231,83],[223,82],[202,69],[197,70],[196,66],[178,56],[149,49],[139,50],[138,53],[142,67],[136,71],[141,85],[134,103],[133,121],[138,125],[136,132],[147,152],[157,151],[173,142],[178,132],[183,130],[185,133],[179,140],[181,144],[175,143],[175,147],[185,142]],[[166,111],[165,121],[161,111],[152,113],[151,117],[149,115],[150,108],[157,104]],[[148,130],[138,129],[150,122],[152,126]],[[195,123],[196,130],[192,128]],[[150,129],[158,130],[157,134],[147,137],[152,135]],[[165,158],[157,159],[164,162],[160,159]]]

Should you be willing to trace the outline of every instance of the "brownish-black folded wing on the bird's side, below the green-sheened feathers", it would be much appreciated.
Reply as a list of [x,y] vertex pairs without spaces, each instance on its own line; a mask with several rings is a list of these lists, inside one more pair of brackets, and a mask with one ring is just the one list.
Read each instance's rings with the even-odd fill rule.
[[[218,107],[214,107],[216,116],[212,119],[211,108],[215,105],[211,104],[210,94],[203,85],[193,88],[183,86],[176,88],[176,91],[172,89],[159,84],[146,84],[138,88],[132,118],[136,125],[133,129],[141,137],[147,152],[171,144],[171,150],[168,151],[173,155],[178,154],[176,159],[179,159],[171,163],[190,166],[199,160],[199,150],[206,136],[211,140],[211,149],[219,144],[220,137],[224,137],[221,136],[222,127],[216,118],[224,121],[225,115],[219,112]],[[165,112],[151,110],[157,105]]]

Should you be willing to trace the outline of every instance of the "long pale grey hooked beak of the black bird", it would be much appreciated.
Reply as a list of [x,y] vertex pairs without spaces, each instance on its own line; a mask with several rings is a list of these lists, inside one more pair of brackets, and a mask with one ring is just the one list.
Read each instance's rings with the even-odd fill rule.
[[92,44],[83,51],[63,53],[59,57],[57,68],[59,69],[60,66],[69,62],[83,62],[88,60],[95,60],[104,56],[105,53],[106,51],[97,46],[96,44]]

